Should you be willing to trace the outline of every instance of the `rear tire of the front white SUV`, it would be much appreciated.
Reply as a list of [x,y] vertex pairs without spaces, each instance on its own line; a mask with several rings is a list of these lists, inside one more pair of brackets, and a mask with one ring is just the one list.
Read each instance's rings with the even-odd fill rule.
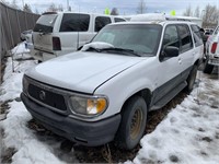
[[193,86],[194,86],[194,83],[195,83],[195,80],[196,80],[196,75],[197,75],[197,70],[198,70],[198,67],[196,65],[193,66],[193,69],[191,70],[191,73],[187,78],[187,86],[185,87],[185,91],[187,93],[191,93],[193,91]]

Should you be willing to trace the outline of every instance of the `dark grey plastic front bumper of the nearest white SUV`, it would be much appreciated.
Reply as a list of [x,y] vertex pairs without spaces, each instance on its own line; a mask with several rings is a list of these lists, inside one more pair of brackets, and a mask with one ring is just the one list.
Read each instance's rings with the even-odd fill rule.
[[83,145],[95,147],[112,141],[120,122],[120,115],[94,122],[77,120],[34,103],[24,93],[21,93],[21,98],[31,115],[44,127]]

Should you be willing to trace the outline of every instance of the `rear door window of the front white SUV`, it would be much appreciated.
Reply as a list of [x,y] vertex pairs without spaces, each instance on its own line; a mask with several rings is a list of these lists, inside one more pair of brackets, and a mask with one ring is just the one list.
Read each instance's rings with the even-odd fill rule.
[[181,38],[181,52],[187,51],[193,48],[193,40],[191,31],[186,24],[178,24],[178,35]]

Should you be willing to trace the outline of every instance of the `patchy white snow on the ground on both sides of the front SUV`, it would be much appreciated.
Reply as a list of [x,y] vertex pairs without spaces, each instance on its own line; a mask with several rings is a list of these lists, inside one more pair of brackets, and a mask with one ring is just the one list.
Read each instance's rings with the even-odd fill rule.
[[[14,57],[22,58],[24,45],[16,47]],[[13,163],[66,163],[57,155],[60,141],[55,139],[39,140],[33,130],[27,128],[32,116],[19,97],[22,91],[22,75],[35,66],[34,60],[14,61],[8,59],[3,83],[0,86],[0,102],[9,103],[7,119],[0,121],[4,129],[3,144],[15,148]],[[14,71],[13,71],[14,70]],[[198,72],[196,87],[181,104],[173,108],[157,129],[146,134],[141,149],[134,161],[126,163],[182,163],[214,164],[219,162],[219,80],[217,74],[206,75]],[[69,157],[69,156],[68,156]],[[78,162],[71,151],[69,162]]]

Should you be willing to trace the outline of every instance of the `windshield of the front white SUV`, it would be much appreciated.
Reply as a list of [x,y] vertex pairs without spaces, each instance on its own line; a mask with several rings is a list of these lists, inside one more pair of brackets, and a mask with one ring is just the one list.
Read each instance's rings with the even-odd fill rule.
[[115,48],[129,49],[141,56],[155,55],[162,26],[154,24],[118,24],[104,27],[92,40]]

